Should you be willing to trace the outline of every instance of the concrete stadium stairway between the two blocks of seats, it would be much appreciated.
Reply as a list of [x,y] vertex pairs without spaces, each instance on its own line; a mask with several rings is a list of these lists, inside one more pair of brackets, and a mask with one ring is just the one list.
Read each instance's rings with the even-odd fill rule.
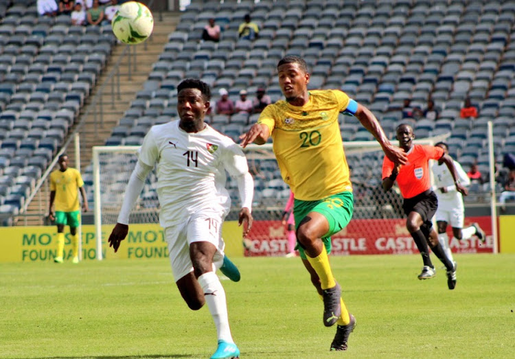
[[[89,110],[89,107],[93,106],[91,104],[93,98],[95,98],[102,84],[106,82],[108,74],[115,67],[118,57],[124,51],[125,45],[114,47],[111,58],[108,60],[108,65],[93,88],[92,94],[89,96],[85,106],[81,108],[80,120],[77,121],[77,123],[80,123],[82,116],[89,110],[89,115],[85,119],[86,122],[82,130],[80,130],[80,165],[82,173],[84,168],[91,163],[91,148],[93,146],[104,146],[106,139],[111,135],[111,129],[118,124],[119,119],[123,117],[124,112],[130,107],[130,102],[135,99],[137,91],[143,89],[143,84],[147,80],[150,71],[152,71],[152,65],[154,62],[157,62],[159,54],[163,51],[163,46],[168,43],[168,35],[175,30],[176,25],[179,23],[180,15],[179,12],[163,12],[162,20],[159,19],[159,16],[155,16],[154,31],[152,37],[147,40],[146,47],[144,44],[135,46],[137,67],[132,69],[130,80],[128,79],[128,61],[126,59],[122,60],[119,67],[120,98],[115,98],[114,107],[111,103],[111,84],[106,84],[102,104],[103,125],[100,126],[98,124],[98,126],[95,126],[95,111],[93,108]],[[98,113],[96,121],[100,122],[100,113]],[[72,133],[73,130],[74,128],[69,133]],[[73,141],[67,148],[66,153],[70,159],[71,167],[76,167]],[[19,217],[15,225],[37,226],[47,224],[43,216],[47,215],[48,201],[49,185],[47,181],[39,189],[36,196],[34,196],[25,216]],[[89,204],[89,208],[90,211],[93,210],[93,203]]]

